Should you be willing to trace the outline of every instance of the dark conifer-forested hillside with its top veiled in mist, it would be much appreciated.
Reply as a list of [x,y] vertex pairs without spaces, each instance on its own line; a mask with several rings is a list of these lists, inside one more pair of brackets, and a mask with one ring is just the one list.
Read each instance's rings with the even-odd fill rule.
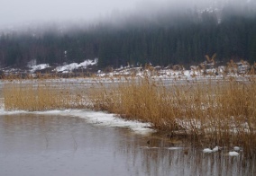
[[224,64],[230,59],[256,60],[256,4],[250,0],[145,5],[132,13],[113,11],[92,23],[52,22],[2,30],[0,67],[94,58],[102,68],[127,63],[190,66],[215,53]]

